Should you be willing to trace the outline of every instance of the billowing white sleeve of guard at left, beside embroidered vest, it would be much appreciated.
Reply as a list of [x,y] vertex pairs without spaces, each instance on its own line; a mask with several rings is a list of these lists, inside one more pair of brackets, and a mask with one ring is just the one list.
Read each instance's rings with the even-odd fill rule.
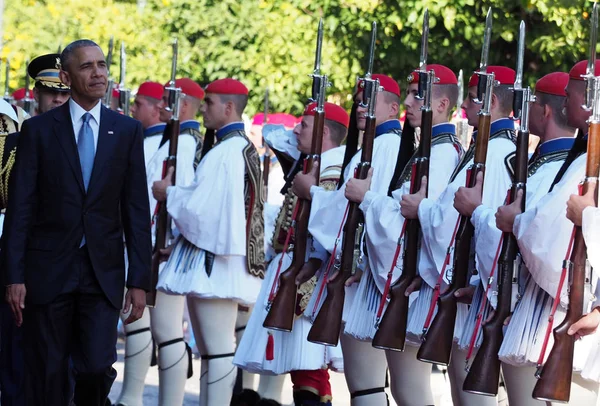
[[246,255],[246,145],[241,137],[218,144],[198,165],[192,184],[167,189],[167,209],[181,234],[216,255]]

